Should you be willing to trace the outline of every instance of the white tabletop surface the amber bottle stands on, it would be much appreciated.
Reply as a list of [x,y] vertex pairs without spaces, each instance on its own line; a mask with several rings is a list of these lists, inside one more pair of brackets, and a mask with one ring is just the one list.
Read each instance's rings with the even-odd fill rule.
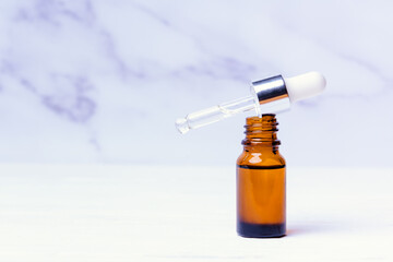
[[0,165],[0,261],[393,261],[392,182],[288,167],[288,235],[245,239],[234,167]]

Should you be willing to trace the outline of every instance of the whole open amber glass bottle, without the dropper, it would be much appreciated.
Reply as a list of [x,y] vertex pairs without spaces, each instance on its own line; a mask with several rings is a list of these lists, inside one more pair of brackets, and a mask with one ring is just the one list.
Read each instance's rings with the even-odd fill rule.
[[237,159],[237,231],[242,237],[282,237],[286,230],[285,159],[278,153],[275,115],[246,121]]

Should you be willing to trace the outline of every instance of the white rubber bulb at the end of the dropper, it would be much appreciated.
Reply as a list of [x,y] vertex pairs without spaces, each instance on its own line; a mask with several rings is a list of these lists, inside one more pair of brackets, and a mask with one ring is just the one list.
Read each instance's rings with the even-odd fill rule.
[[326,80],[319,72],[309,72],[284,81],[291,103],[318,95],[326,86]]

